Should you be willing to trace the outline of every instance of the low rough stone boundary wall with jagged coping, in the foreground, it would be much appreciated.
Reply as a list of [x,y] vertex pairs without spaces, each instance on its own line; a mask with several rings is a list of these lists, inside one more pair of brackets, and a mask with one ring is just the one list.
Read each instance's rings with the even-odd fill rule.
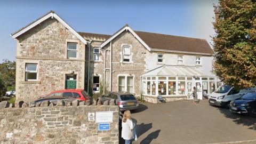
[[[0,143],[119,143],[119,107],[111,102],[21,103],[13,107],[0,102]],[[99,131],[95,121],[88,121],[88,113],[95,111],[113,111],[109,131]]]

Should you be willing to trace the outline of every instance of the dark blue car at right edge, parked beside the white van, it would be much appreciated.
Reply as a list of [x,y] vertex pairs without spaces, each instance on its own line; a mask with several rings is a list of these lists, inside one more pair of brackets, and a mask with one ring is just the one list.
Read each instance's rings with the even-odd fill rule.
[[240,99],[231,101],[229,110],[256,117],[256,92],[247,93]]

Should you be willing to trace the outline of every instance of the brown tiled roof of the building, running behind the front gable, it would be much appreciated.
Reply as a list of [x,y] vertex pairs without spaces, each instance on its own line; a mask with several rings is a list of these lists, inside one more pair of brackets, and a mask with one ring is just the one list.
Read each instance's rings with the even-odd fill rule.
[[[143,31],[134,31],[152,51],[170,51],[179,53],[213,54],[213,50],[205,39],[173,36]],[[84,38],[109,39],[111,35],[82,33]],[[116,33],[115,33],[116,34]],[[114,35],[115,35],[114,34]]]

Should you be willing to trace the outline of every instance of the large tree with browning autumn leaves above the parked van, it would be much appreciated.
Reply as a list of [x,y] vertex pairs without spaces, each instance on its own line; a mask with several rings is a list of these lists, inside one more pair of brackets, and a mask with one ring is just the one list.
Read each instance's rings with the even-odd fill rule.
[[214,13],[214,74],[238,89],[255,86],[255,0],[220,0]]

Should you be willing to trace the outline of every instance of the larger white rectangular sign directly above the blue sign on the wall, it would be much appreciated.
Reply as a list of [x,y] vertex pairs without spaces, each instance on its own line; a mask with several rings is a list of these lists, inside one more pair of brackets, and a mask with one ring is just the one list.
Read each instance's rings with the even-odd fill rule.
[[96,111],[96,123],[113,123],[113,111]]

